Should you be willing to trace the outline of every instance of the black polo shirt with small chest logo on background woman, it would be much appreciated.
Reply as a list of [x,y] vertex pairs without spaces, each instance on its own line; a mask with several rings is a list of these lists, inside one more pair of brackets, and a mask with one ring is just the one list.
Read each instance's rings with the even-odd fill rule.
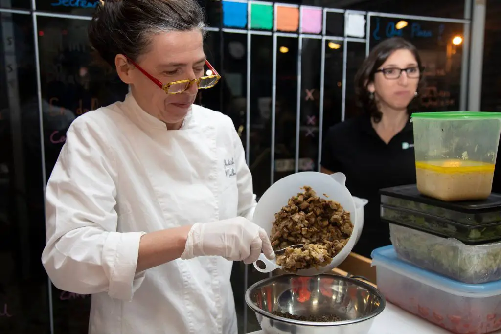
[[325,137],[322,166],[343,172],[351,194],[369,200],[354,251],[370,256],[373,249],[389,245],[389,226],[380,220],[379,189],[416,183],[412,123],[388,144],[377,135],[369,117],[338,123]]

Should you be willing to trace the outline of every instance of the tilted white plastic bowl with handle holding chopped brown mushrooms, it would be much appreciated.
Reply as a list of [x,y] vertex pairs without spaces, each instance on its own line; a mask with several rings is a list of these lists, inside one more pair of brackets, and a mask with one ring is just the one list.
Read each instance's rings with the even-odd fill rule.
[[[346,188],[345,183],[346,176],[343,173],[327,175],[320,172],[300,172],[288,175],[274,183],[263,194],[254,212],[254,223],[263,227],[268,233],[271,233],[273,221],[275,220],[275,213],[279,212],[282,207],[287,205],[289,198],[301,192],[301,187],[310,186],[321,198],[339,202],[345,210],[350,211],[351,220],[354,225],[352,236],[358,236],[359,230],[362,230],[362,226],[357,219],[355,202],[350,191]],[[355,246],[356,241],[356,237],[350,238],[346,246],[334,256],[329,265],[319,267],[318,270],[315,268],[298,270],[296,274],[301,276],[314,276],[331,271],[346,259]],[[257,265],[258,261],[262,261],[266,267],[260,268]],[[261,272],[271,272],[275,269],[282,268],[277,265],[275,259],[269,260],[264,254],[261,254],[258,261],[254,262],[254,266]]]

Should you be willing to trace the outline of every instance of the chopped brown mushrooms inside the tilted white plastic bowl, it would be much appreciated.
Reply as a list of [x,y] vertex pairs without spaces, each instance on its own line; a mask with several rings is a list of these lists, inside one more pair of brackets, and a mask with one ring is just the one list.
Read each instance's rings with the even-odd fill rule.
[[289,272],[330,264],[353,232],[350,212],[341,204],[320,198],[309,186],[303,189],[275,214],[273,222],[271,242],[275,250],[305,244],[277,256],[277,264]]

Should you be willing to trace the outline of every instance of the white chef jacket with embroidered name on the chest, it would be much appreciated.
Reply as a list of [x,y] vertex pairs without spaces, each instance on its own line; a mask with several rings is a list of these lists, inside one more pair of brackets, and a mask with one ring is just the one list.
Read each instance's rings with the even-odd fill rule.
[[90,334],[236,334],[231,261],[176,259],[136,274],[139,239],[252,219],[255,198],[229,117],[193,105],[167,131],[129,94],[70,126],[47,185],[42,262],[59,289],[92,294]]

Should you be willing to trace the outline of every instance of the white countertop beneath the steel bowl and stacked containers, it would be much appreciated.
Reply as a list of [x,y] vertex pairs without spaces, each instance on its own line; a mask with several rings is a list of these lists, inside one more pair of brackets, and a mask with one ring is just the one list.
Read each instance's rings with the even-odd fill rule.
[[[403,309],[387,302],[384,311],[374,319],[369,334],[450,334],[426,320],[412,315]],[[258,330],[250,334],[264,334]],[[501,330],[491,334],[501,334]]]

